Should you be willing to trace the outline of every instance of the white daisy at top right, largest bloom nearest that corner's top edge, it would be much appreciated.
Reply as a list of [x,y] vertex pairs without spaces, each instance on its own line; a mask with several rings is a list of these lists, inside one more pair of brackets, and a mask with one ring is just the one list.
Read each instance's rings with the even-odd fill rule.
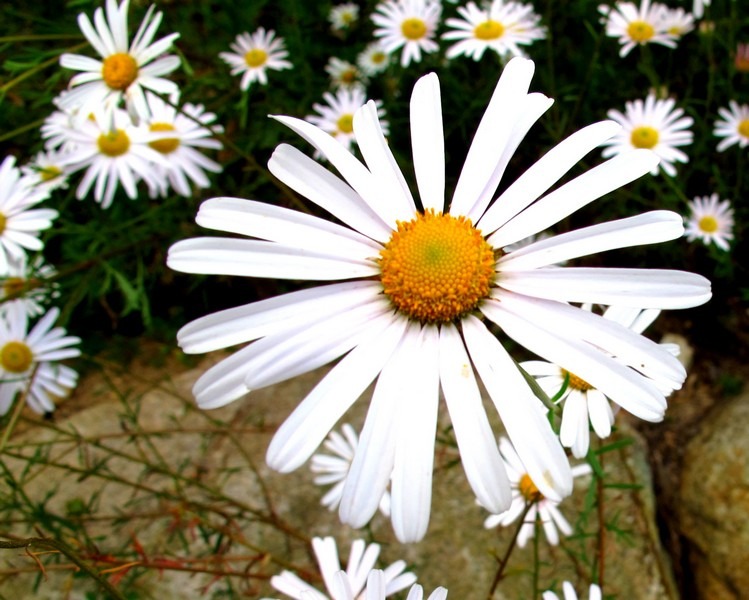
[[606,35],[619,38],[621,57],[627,56],[635,46],[644,44],[676,48],[676,36],[664,25],[668,7],[659,2],[651,4],[650,0],[641,0],[639,7],[634,2],[617,2],[613,8],[602,4],[598,10],[603,14]]

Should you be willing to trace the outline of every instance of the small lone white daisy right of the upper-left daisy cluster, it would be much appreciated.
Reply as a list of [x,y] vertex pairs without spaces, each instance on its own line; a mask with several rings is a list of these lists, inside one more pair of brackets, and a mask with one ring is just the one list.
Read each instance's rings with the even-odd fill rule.
[[250,84],[257,81],[260,85],[268,84],[266,70],[282,71],[293,66],[286,57],[289,55],[283,38],[276,37],[272,29],[265,31],[260,27],[253,34],[240,33],[232,44],[232,52],[220,52],[219,57],[231,67],[231,74],[242,73],[239,87],[248,90]]

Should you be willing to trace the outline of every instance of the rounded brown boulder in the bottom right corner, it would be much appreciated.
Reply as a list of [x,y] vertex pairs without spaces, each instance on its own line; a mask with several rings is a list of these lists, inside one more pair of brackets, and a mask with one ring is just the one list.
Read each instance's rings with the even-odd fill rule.
[[699,598],[749,598],[749,394],[716,405],[689,442],[678,516]]

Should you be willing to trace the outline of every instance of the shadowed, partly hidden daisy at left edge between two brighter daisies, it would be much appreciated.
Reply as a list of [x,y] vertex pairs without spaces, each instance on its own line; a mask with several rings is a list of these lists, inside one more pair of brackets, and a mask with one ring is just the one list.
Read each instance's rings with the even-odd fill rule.
[[31,263],[9,262],[7,270],[0,273],[0,312],[11,303],[18,303],[29,317],[42,314],[50,298],[60,296],[59,286],[47,281],[56,274],[55,268],[46,264],[41,255]]

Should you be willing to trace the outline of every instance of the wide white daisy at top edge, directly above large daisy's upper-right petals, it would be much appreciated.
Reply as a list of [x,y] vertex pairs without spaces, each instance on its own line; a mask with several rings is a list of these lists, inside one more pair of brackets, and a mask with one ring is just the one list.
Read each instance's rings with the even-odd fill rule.
[[452,31],[442,35],[444,40],[460,40],[447,50],[447,58],[465,55],[479,60],[484,50],[490,48],[501,57],[523,54],[520,45],[532,44],[546,37],[539,27],[541,17],[530,4],[492,0],[480,8],[475,2],[458,7],[462,19],[450,18],[445,22]]

